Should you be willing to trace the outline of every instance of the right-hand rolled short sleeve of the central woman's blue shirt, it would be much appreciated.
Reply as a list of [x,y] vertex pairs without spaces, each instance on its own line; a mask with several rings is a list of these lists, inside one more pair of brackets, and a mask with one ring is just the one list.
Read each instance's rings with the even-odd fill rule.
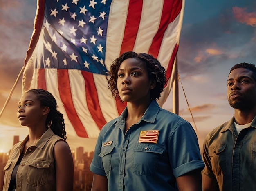
[[176,178],[193,170],[204,168],[198,138],[189,122],[180,122],[171,132],[168,141],[170,163]]

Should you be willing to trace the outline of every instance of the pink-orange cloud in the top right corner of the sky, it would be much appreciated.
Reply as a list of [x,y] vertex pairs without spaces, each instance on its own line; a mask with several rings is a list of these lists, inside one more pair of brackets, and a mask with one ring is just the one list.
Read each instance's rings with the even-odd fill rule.
[[234,18],[241,23],[256,27],[256,12],[248,13],[247,8],[232,7]]

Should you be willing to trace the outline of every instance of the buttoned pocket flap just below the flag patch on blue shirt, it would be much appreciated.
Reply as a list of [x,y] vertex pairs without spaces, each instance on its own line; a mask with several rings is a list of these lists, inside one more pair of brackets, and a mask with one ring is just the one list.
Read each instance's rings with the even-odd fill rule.
[[158,144],[138,143],[135,145],[134,151],[162,154],[164,152],[164,146]]

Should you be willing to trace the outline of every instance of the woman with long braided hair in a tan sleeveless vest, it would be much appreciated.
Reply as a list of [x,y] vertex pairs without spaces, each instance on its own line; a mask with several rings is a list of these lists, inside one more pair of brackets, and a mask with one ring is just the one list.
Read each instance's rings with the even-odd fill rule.
[[3,191],[72,191],[73,158],[54,96],[31,89],[18,107],[18,120],[29,134],[11,149]]

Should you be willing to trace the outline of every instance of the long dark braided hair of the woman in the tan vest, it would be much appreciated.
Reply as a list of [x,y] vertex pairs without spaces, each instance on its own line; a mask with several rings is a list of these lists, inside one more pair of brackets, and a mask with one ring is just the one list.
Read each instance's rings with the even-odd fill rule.
[[41,106],[49,107],[50,111],[47,115],[45,125],[51,128],[55,135],[58,135],[59,137],[66,140],[66,127],[63,114],[57,110],[57,102],[52,93],[49,93],[44,89],[30,89],[27,92],[34,93]]

